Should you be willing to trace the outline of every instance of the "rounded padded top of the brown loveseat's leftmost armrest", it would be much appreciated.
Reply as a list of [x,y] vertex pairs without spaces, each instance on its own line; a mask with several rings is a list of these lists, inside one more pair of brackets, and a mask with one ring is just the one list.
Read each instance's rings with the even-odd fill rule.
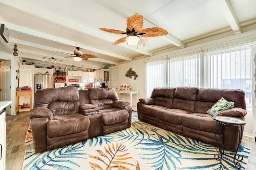
[[35,107],[28,115],[30,119],[47,117],[49,120],[53,119],[52,111],[46,107]]

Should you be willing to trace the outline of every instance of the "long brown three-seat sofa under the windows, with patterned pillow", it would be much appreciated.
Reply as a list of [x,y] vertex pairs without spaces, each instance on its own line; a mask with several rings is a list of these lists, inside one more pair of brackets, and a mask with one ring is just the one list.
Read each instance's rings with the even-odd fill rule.
[[[234,107],[222,111],[219,116],[244,120],[247,112],[243,90],[196,87],[154,88],[150,98],[141,98],[137,103],[138,119],[217,146],[214,135],[216,121],[207,110],[222,97],[234,102]],[[239,137],[234,127],[222,127],[221,132],[224,145],[236,150]],[[216,133],[220,143],[218,127]]]

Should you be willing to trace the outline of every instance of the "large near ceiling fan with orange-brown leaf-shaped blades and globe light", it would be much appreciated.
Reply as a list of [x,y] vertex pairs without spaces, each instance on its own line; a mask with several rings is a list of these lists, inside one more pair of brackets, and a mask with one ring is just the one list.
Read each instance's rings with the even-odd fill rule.
[[158,27],[142,29],[142,25],[143,25],[142,15],[131,16],[130,18],[128,18],[126,25],[127,25],[126,32],[116,30],[116,29],[108,29],[108,28],[99,28],[99,29],[109,33],[127,35],[127,37],[123,37],[116,40],[113,43],[114,45],[124,43],[126,41],[128,45],[138,44],[141,46],[146,46],[148,44],[148,39],[146,37],[157,37],[157,36],[168,34],[166,30]]

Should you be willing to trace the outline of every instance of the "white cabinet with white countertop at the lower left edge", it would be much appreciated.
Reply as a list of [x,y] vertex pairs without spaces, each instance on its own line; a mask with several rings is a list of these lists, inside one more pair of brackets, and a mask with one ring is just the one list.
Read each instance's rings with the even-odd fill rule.
[[6,160],[6,111],[5,108],[12,102],[0,102],[0,169],[5,170]]

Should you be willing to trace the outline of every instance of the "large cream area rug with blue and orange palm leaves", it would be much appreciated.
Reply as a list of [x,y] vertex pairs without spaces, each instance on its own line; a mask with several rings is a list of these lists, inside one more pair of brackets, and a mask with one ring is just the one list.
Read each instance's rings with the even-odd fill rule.
[[[94,137],[62,148],[35,154],[26,150],[23,170],[202,170],[236,169],[234,154],[142,121],[128,129]],[[246,169],[250,148],[240,146],[241,170]]]

